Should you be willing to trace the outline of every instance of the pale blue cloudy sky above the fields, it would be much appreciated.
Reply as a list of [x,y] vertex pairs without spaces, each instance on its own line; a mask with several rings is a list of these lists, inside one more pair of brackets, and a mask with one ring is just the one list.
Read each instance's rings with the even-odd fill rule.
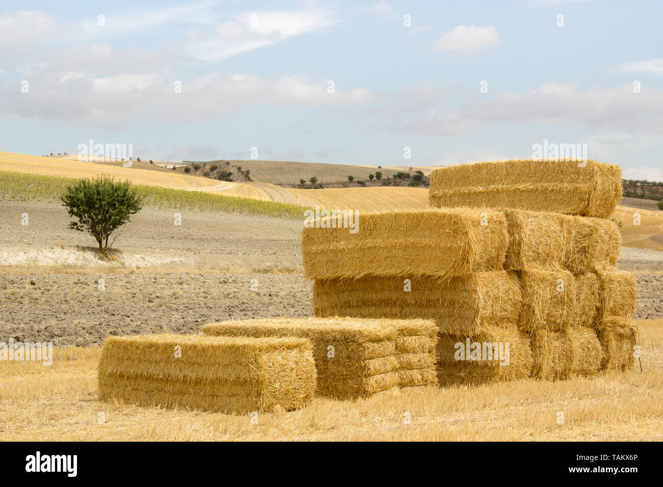
[[547,140],[663,181],[661,19],[637,0],[3,1],[0,150],[432,166]]

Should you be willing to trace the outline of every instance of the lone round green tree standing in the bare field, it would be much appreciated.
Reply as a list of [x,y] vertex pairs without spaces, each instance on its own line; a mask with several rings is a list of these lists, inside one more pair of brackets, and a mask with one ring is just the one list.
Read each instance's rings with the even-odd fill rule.
[[125,225],[131,215],[143,207],[143,198],[137,195],[129,181],[115,182],[105,176],[80,180],[68,186],[60,199],[69,216],[78,218],[77,222],[69,224],[69,228],[90,233],[101,253],[107,250],[111,233]]

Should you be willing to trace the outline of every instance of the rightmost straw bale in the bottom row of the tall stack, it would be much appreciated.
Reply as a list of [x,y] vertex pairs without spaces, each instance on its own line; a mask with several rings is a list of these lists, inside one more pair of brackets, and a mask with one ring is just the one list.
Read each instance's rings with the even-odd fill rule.
[[599,342],[603,348],[602,370],[631,370],[635,361],[636,333],[627,318],[611,317],[599,321]]

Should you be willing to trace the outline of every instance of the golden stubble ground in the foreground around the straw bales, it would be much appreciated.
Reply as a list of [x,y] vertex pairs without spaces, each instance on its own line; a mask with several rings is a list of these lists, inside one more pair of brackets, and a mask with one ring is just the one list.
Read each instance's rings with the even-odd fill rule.
[[663,319],[636,323],[642,373],[636,360],[634,372],[593,379],[410,388],[355,402],[315,398],[257,423],[249,415],[98,402],[101,349],[60,349],[50,367],[0,363],[0,433],[5,441],[661,441]]

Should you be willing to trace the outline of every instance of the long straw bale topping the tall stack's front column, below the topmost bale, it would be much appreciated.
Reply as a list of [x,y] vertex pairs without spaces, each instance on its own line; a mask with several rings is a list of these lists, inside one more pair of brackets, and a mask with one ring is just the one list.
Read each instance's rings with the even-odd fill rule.
[[356,233],[304,228],[302,258],[308,279],[450,278],[501,269],[508,241],[506,220],[498,211],[389,211],[361,215]]

